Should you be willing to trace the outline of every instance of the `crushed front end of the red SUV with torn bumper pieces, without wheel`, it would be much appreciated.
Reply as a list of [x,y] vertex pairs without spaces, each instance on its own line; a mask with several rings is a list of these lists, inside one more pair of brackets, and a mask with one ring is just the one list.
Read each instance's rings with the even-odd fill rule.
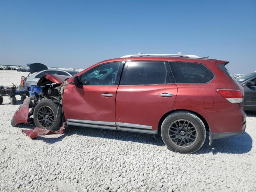
[[[62,95],[66,86],[65,80],[68,78],[70,78],[70,76],[50,74],[42,76],[37,84],[37,87],[43,87],[40,94],[34,92],[34,96],[24,100],[23,104],[20,105],[18,110],[14,113],[11,125],[17,126],[18,124],[33,124],[34,108],[42,100],[50,99],[59,105],[62,105]],[[65,127],[66,124],[63,124],[58,131],[36,127],[31,130],[22,130],[22,132],[30,138],[36,138],[37,136],[44,136],[47,134],[62,134]]]

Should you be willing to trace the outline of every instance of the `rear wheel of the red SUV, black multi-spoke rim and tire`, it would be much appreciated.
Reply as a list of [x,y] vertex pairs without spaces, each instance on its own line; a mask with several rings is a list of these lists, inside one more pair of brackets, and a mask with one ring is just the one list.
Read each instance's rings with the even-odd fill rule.
[[204,144],[206,128],[194,113],[177,111],[168,115],[163,121],[161,136],[168,149],[190,154],[199,150]]

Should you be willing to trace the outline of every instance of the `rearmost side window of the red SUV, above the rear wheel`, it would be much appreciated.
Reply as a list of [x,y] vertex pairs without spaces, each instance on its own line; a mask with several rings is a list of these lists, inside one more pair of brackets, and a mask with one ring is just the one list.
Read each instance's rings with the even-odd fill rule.
[[192,62],[169,62],[176,83],[207,83],[214,74],[206,66]]

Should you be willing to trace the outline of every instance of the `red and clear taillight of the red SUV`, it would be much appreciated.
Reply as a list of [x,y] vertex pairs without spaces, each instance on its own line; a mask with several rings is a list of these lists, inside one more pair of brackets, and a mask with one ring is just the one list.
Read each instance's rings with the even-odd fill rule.
[[216,92],[226,98],[230,103],[241,103],[244,99],[244,92],[232,89],[216,89]]

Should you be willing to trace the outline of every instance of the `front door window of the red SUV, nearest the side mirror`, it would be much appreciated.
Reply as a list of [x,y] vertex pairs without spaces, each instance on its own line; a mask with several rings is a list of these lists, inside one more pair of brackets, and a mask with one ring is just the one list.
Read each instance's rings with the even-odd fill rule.
[[80,83],[83,85],[114,85],[119,66],[119,62],[96,66],[82,74]]

